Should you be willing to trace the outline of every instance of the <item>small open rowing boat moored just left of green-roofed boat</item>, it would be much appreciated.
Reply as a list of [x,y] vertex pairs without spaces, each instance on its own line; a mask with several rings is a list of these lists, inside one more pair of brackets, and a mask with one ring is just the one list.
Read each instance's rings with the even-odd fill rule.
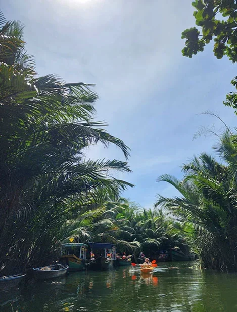
[[69,266],[67,264],[54,264],[41,268],[33,268],[34,277],[38,280],[54,279],[65,275]]

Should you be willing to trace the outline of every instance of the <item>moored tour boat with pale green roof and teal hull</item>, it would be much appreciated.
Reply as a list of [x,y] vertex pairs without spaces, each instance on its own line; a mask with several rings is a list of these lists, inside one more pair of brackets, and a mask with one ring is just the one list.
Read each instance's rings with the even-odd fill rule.
[[62,244],[60,262],[68,265],[68,271],[84,271],[88,246],[82,243]]

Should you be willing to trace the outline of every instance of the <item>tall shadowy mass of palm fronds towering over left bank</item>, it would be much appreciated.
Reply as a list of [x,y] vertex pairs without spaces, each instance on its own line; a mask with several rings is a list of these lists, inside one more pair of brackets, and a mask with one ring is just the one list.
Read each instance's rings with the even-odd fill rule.
[[64,224],[65,203],[86,210],[132,185],[113,176],[130,172],[126,161],[85,157],[98,142],[129,156],[123,141],[94,120],[92,85],[37,77],[22,25],[2,14],[0,45],[0,267],[13,272],[40,244],[52,248],[48,233]]

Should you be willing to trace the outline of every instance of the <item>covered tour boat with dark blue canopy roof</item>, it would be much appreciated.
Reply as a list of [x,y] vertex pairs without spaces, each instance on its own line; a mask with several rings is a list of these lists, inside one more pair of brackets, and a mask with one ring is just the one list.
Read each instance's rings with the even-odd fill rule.
[[[108,270],[116,260],[116,250],[113,244],[88,243],[91,248],[91,257],[88,263],[90,270]],[[95,254],[93,254],[93,251]]]

